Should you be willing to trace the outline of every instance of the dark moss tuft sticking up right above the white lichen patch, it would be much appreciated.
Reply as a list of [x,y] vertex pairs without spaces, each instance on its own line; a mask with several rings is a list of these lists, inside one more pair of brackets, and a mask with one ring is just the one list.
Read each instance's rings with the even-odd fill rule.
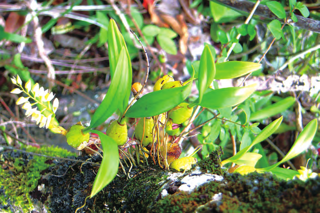
[[214,151],[212,151],[209,157],[201,160],[198,163],[201,172],[203,173],[211,173],[215,175],[224,176],[226,171],[221,169],[221,160],[220,157],[223,155],[222,148],[218,146]]

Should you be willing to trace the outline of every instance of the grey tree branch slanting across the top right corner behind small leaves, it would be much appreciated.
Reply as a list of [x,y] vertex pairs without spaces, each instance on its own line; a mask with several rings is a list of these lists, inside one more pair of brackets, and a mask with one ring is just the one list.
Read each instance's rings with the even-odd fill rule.
[[[247,13],[250,13],[250,11],[254,6],[254,2],[251,2],[248,0],[210,0],[210,1],[216,2],[223,6],[227,6],[231,9],[240,10]],[[267,19],[278,19],[279,21],[281,21],[281,23],[284,23],[283,19],[280,19],[277,16],[275,16],[271,12],[271,10],[269,10],[269,8],[265,5],[258,5],[258,7],[254,12],[254,15],[258,15],[260,17],[267,18]],[[290,17],[290,13],[286,12],[286,16]],[[320,21],[313,20],[310,18],[305,18],[300,15],[296,15],[296,17],[298,19],[297,22],[294,22],[292,19],[288,19],[287,23],[292,26],[296,26],[302,29],[307,29],[309,31],[320,33]]]

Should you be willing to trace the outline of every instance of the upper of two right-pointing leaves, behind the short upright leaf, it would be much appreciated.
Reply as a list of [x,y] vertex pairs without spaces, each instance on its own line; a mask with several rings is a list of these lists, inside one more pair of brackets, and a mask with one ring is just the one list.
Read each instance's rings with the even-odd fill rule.
[[261,64],[246,61],[226,61],[215,64],[214,79],[230,79],[246,75],[261,68]]

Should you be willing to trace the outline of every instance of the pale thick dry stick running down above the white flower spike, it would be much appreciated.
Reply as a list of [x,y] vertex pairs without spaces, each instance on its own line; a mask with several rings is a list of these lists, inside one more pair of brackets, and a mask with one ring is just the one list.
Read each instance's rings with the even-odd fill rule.
[[55,79],[54,67],[52,66],[50,58],[45,54],[44,43],[42,40],[42,31],[41,31],[41,27],[39,26],[39,19],[35,12],[35,10],[37,9],[36,0],[31,0],[30,3],[28,4],[28,7],[31,9],[31,14],[33,16],[32,22],[33,22],[33,29],[34,29],[34,40],[38,48],[39,56],[42,58],[42,60],[44,61],[48,69],[47,77],[50,80],[49,86],[52,87],[53,86],[52,81]]

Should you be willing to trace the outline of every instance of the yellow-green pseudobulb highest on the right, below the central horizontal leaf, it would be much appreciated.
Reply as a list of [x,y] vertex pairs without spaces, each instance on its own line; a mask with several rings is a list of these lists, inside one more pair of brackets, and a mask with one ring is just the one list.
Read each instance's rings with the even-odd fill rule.
[[181,124],[190,118],[193,107],[188,108],[188,105],[188,103],[180,103],[178,106],[169,111],[168,117],[172,119],[174,124]]

